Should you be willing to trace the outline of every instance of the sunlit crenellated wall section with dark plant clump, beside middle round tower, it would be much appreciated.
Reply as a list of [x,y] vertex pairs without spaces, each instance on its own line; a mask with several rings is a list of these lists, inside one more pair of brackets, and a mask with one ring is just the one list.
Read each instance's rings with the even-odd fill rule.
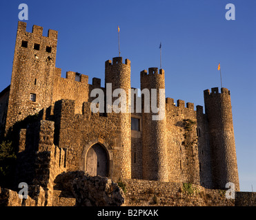
[[199,184],[197,111],[193,103],[166,99],[169,181]]

